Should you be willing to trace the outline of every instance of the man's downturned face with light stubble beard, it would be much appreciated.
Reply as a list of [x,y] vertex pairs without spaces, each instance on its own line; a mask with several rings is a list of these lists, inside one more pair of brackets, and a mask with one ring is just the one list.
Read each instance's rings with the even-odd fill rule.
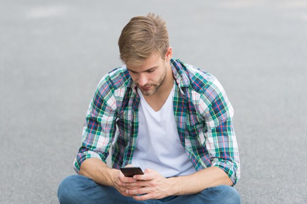
[[134,84],[143,95],[150,96],[158,91],[166,77],[166,62],[157,53],[154,53],[140,66],[127,69]]

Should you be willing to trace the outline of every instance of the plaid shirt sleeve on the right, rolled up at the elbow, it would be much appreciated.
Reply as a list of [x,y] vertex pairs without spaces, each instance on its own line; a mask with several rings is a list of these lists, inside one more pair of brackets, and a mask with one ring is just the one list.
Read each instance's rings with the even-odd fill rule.
[[205,147],[211,166],[224,170],[235,184],[240,178],[240,160],[232,125],[234,111],[217,79],[209,82],[205,94],[201,95],[200,105],[205,118]]

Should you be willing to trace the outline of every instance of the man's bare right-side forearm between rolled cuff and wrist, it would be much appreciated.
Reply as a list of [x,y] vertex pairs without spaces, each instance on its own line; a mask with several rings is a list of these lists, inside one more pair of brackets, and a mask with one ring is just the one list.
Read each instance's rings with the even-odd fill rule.
[[219,167],[212,166],[194,174],[169,178],[172,183],[172,195],[199,193],[205,188],[217,185],[232,185],[227,174]]

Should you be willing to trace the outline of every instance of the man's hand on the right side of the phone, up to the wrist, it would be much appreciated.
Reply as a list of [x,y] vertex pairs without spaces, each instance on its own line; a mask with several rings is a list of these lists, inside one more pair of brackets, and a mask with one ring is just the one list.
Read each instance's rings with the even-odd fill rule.
[[[170,196],[173,185],[169,179],[164,178],[157,171],[146,169],[144,175],[134,175],[136,182],[126,182],[124,186],[128,189],[126,194],[133,196],[135,200],[144,201],[148,199],[161,199]],[[131,189],[131,187],[138,187]],[[138,194],[145,194],[136,196]]]

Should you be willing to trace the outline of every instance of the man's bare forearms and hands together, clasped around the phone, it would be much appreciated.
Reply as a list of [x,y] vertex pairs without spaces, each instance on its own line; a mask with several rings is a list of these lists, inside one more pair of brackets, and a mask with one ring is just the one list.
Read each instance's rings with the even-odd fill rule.
[[[217,166],[208,167],[191,175],[168,179],[151,169],[146,169],[144,173],[145,175],[135,175],[133,178],[125,177],[120,170],[109,168],[97,158],[83,161],[79,171],[80,175],[91,178],[101,185],[113,186],[124,196],[133,196],[135,200],[195,194],[208,187],[233,184],[225,171]],[[138,194],[146,195],[136,196]]]

